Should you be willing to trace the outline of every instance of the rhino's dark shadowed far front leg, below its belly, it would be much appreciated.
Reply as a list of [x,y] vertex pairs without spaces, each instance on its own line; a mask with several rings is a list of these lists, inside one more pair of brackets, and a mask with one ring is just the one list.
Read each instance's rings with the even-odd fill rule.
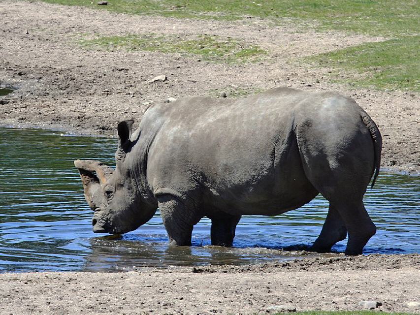
[[236,225],[241,216],[223,214],[211,217],[211,245],[231,247],[235,237]]

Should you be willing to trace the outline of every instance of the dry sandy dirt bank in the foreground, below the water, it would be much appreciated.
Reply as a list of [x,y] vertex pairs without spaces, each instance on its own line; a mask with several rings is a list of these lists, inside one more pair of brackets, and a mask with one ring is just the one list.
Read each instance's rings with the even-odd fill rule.
[[[331,256],[253,266],[0,275],[0,314],[262,314],[272,307],[420,313],[420,255]],[[267,311],[268,310],[268,311]]]

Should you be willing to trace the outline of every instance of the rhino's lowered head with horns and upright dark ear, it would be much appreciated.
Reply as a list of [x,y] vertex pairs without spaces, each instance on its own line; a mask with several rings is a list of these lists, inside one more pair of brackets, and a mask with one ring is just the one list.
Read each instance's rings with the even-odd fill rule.
[[156,207],[145,202],[141,193],[130,141],[132,121],[118,125],[118,149],[115,171],[95,160],[75,160],[89,207],[95,233],[123,234],[149,221]]

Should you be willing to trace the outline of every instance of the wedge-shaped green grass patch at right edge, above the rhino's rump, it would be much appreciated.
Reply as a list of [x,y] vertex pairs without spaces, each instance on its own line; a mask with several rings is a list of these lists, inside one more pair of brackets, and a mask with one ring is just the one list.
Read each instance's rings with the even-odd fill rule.
[[[355,87],[420,92],[420,36],[362,44],[306,58],[333,67],[338,82]],[[354,74],[354,76],[350,76]]]

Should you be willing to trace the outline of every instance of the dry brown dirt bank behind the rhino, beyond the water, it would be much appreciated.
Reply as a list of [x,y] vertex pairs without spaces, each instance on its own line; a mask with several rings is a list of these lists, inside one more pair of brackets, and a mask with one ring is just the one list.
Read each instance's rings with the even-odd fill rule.
[[[351,89],[333,84],[325,75],[329,69],[297,62],[300,57],[382,38],[320,33],[287,21],[278,26],[259,19],[130,16],[19,0],[0,0],[0,20],[0,83],[20,87],[12,95],[0,96],[2,125],[115,134],[119,121],[139,121],[148,104],[168,97],[276,86],[338,90],[354,97],[380,127],[382,166],[419,171],[418,94]],[[94,33],[228,35],[259,45],[268,56],[261,63],[211,63],[180,54],[86,50],[77,43],[80,34]],[[168,80],[148,83],[160,74]]]

